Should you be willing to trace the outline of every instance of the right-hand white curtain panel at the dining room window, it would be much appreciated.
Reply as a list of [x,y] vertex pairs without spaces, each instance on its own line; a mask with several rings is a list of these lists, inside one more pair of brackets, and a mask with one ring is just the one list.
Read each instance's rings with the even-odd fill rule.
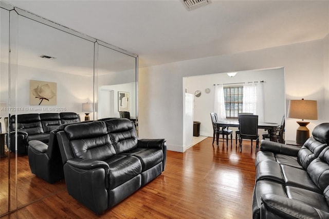
[[264,122],[263,83],[252,82],[243,86],[243,111],[258,115],[258,121]]

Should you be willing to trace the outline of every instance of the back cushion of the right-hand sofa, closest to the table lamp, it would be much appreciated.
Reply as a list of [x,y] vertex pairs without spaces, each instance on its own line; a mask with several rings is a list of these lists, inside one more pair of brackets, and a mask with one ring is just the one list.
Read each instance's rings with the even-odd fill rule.
[[299,164],[306,170],[309,163],[317,158],[326,146],[325,143],[317,141],[314,137],[308,138],[298,152]]

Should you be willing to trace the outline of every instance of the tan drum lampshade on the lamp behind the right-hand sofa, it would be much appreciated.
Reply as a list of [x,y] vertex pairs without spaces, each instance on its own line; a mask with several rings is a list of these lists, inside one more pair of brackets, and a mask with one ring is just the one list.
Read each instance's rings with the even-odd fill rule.
[[295,119],[318,119],[318,106],[316,100],[290,100],[288,117]]

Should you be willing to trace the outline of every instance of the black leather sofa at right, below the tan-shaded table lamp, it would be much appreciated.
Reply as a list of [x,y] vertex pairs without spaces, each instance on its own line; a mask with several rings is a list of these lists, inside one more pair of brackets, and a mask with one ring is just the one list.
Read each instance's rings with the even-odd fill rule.
[[302,147],[261,141],[253,218],[329,218],[329,123]]

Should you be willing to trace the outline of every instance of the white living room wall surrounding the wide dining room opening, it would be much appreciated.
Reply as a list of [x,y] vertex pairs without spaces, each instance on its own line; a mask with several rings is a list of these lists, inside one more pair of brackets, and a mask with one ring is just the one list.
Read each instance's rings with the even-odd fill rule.
[[[325,39],[327,42],[327,39]],[[184,152],[183,77],[218,72],[285,68],[286,105],[290,99],[318,100],[318,120],[308,128],[328,121],[324,98],[324,40],[139,69],[139,137],[166,138],[169,150]],[[326,86],[327,87],[327,86]],[[297,119],[287,119],[286,139],[296,139]]]

